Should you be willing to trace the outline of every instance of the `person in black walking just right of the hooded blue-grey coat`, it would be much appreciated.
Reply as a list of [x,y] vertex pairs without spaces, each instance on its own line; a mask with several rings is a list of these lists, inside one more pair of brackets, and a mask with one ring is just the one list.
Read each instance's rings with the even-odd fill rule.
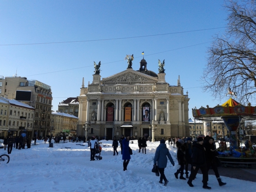
[[184,140],[183,139],[179,139],[176,142],[176,146],[177,146],[177,159],[180,165],[180,168],[177,170],[176,173],[174,173],[175,178],[178,179],[178,175],[180,173],[180,179],[186,180],[186,178],[183,177],[184,174],[184,165],[185,165],[185,146],[184,146]]

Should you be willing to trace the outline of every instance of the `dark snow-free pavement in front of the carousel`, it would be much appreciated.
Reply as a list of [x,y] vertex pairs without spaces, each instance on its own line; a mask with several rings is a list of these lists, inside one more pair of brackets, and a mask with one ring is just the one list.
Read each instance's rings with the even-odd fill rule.
[[[188,166],[188,170],[191,170],[190,166]],[[218,167],[218,171],[219,171],[220,176],[256,182],[256,169]],[[202,174],[200,169],[199,169],[198,173]],[[209,170],[208,174],[215,175],[212,169]],[[225,182],[224,179],[222,181]]]

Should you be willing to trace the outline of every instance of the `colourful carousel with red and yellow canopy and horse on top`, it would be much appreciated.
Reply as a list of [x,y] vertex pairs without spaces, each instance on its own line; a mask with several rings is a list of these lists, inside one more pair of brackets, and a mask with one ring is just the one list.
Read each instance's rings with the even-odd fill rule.
[[[199,109],[192,109],[192,113],[195,119],[203,122],[211,122],[215,120],[222,120],[227,126],[229,131],[229,147],[226,145],[226,141],[221,141],[219,148],[217,149],[220,161],[225,165],[243,165],[246,167],[256,166],[256,148],[252,146],[251,141],[248,141],[246,147],[242,146],[241,138],[241,122],[247,120],[256,119],[256,107],[251,106],[248,103],[247,106],[241,105],[236,100],[231,98],[222,105],[217,105],[210,108],[208,105],[206,108],[203,106]],[[240,131],[241,130],[241,131]],[[207,130],[204,135],[211,134],[210,130]],[[211,136],[211,135],[210,135]]]

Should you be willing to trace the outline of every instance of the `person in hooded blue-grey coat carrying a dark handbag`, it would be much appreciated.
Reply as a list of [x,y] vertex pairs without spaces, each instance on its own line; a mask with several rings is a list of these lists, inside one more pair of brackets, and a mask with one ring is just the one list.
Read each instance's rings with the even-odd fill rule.
[[159,183],[163,183],[164,180],[164,186],[167,185],[169,182],[165,175],[164,175],[164,168],[167,166],[167,157],[169,158],[172,166],[174,166],[174,161],[172,159],[172,156],[169,152],[169,150],[166,147],[165,140],[162,139],[160,141],[160,145],[156,148],[156,153],[154,157],[154,164],[158,166],[159,172],[160,172],[160,181]]

